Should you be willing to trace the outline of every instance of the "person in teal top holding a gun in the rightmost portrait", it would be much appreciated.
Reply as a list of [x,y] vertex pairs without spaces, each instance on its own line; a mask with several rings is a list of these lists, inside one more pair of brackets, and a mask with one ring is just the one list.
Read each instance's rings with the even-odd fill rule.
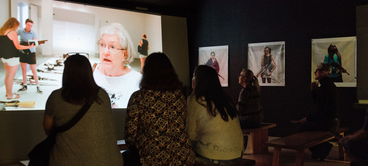
[[339,50],[337,50],[336,45],[331,44],[328,47],[327,52],[328,54],[325,56],[323,63],[328,63],[331,66],[330,78],[332,78],[332,82],[343,82],[341,73],[346,72],[346,70],[340,71],[339,68],[333,67],[336,65],[332,64],[337,63],[339,66],[341,66],[341,54],[339,53]]

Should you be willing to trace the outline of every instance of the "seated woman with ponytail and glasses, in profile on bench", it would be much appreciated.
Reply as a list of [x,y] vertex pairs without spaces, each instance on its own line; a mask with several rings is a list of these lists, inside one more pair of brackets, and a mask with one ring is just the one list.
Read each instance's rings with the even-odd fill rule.
[[259,84],[257,77],[249,69],[243,69],[239,75],[239,84],[244,88],[239,94],[238,111],[241,128],[259,127],[263,120],[261,98],[259,96]]

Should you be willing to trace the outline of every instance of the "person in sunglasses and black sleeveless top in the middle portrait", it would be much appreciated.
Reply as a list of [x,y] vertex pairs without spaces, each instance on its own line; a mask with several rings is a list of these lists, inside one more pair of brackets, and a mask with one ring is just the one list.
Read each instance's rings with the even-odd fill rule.
[[275,70],[277,65],[275,62],[275,58],[271,55],[271,48],[265,47],[264,52],[265,54],[262,56],[261,68],[266,66],[267,70],[266,72],[261,74],[262,83],[266,83],[266,79],[267,83],[271,83],[272,72]]

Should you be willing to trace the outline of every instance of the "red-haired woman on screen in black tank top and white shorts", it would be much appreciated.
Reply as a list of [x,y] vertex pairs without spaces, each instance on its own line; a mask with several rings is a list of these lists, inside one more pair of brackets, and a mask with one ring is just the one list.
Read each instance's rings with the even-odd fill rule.
[[18,94],[13,94],[12,91],[15,73],[17,72],[19,64],[19,50],[36,47],[33,44],[30,46],[22,46],[19,44],[18,35],[17,32],[15,32],[19,24],[17,18],[11,17],[0,28],[0,58],[5,68],[5,96],[8,100],[20,98]]

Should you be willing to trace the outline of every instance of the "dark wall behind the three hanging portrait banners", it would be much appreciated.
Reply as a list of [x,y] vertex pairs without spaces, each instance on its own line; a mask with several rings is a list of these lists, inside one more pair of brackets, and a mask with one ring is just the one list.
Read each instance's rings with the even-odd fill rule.
[[[314,109],[309,90],[311,39],[356,36],[358,4],[317,0],[199,1],[194,14],[187,17],[190,75],[198,65],[198,47],[229,45],[229,87],[224,89],[237,101],[242,88],[238,75],[248,64],[248,43],[285,41],[286,86],[261,86],[261,98],[264,122],[277,124],[270,129],[270,136],[290,134],[296,126],[289,121],[300,120]],[[356,88],[338,89],[342,101],[340,126],[357,130],[362,126],[364,110],[353,108]]]

